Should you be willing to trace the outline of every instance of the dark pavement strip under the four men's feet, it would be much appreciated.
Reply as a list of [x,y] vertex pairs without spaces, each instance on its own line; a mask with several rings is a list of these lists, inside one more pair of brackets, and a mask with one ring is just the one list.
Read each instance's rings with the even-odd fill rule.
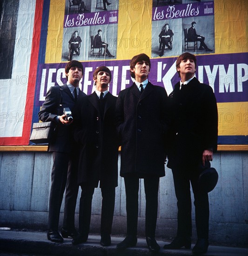
[[[153,255],[148,248],[145,238],[138,238],[135,247],[124,251],[116,249],[124,237],[112,236],[112,244],[109,247],[100,245],[100,236],[90,235],[87,243],[72,245],[71,239],[64,239],[64,243],[53,243],[47,240],[44,231],[26,230],[0,230],[0,255],[39,255],[39,256],[146,256]],[[188,256],[193,255],[192,249],[163,249],[164,242],[157,240],[161,250],[156,255]],[[191,248],[194,247],[192,244]],[[209,246],[206,256],[248,256],[248,248],[236,248],[226,246]]]

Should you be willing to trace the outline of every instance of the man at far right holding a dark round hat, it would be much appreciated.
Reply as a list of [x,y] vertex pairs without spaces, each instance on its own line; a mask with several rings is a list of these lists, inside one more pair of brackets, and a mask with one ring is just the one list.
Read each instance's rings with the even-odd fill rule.
[[181,81],[169,95],[172,125],[168,136],[168,168],[172,169],[178,207],[177,236],[165,249],[191,247],[191,192],[194,193],[197,242],[194,253],[208,250],[208,193],[198,185],[202,166],[217,150],[218,113],[213,89],[195,77],[196,58],[181,54],[176,61]]

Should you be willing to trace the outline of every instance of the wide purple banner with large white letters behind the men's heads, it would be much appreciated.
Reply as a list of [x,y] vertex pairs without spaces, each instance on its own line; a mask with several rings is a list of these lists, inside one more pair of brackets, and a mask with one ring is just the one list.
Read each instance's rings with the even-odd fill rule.
[[[180,80],[175,68],[176,57],[151,59],[148,80],[154,85],[164,87],[169,94]],[[197,56],[196,78],[209,84],[217,102],[248,101],[248,53],[208,54]],[[105,65],[112,72],[109,91],[114,95],[133,84],[129,74],[129,60],[123,61],[87,61],[83,62],[85,74],[80,87],[91,94],[94,69]],[[66,82],[63,77],[66,63],[40,64],[37,74],[35,104],[41,105],[47,88]]]

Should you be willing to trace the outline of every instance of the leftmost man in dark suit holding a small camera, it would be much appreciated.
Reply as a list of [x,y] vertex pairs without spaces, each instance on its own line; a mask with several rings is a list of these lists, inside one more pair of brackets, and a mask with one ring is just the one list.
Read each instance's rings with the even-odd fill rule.
[[[38,114],[40,121],[53,121],[56,129],[48,151],[53,152],[52,183],[49,198],[48,232],[47,238],[52,242],[62,243],[63,238],[77,235],[74,226],[74,214],[78,195],[77,167],[78,150],[71,132],[72,119],[69,118],[80,96],[86,96],[79,89],[79,82],[83,77],[83,66],[79,61],[70,61],[65,67],[67,83],[63,86],[51,87],[45,102]],[[64,110],[64,108],[66,108]],[[69,109],[68,109],[69,108]],[[64,114],[63,114],[64,113]],[[65,195],[64,221],[61,235],[58,232],[60,207]]]

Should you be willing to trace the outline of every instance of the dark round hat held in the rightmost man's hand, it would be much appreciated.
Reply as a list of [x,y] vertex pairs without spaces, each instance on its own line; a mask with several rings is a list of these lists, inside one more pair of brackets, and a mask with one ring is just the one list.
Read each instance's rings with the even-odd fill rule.
[[199,176],[198,184],[202,191],[212,191],[218,182],[218,173],[215,168],[211,167],[210,162],[206,162],[205,166],[200,167],[201,174]]

